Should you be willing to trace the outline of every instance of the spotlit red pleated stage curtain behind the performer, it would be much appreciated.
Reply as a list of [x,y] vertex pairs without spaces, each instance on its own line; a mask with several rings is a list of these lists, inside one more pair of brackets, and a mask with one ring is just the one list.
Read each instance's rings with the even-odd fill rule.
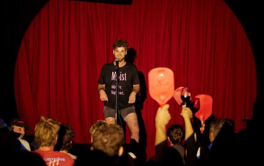
[[[112,44],[126,39],[137,51],[134,64],[145,75],[155,67],[174,71],[175,89],[213,97],[213,115],[251,119],[256,70],[248,38],[221,0],[133,0],[132,5],[51,0],[35,17],[20,46],[15,95],[31,133],[41,115],[69,123],[76,143],[89,143],[90,126],[104,119],[97,81],[114,60]],[[184,124],[169,102],[169,125]],[[158,104],[147,93],[142,110],[148,158],[154,154]],[[210,124],[207,124],[210,125]],[[127,134],[129,136],[129,134]]]

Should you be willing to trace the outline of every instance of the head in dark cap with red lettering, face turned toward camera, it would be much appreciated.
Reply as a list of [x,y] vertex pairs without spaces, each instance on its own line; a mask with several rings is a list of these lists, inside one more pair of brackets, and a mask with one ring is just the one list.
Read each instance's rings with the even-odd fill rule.
[[30,127],[25,125],[25,123],[18,118],[11,119],[9,126],[13,128],[14,132],[21,134],[19,138],[23,138],[25,131],[30,130]]

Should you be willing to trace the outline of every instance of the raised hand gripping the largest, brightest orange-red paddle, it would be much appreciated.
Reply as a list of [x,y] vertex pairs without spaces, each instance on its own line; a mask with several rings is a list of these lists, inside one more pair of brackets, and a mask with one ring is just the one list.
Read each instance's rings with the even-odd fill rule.
[[158,108],[157,114],[156,114],[156,127],[159,126],[166,126],[170,119],[171,119],[171,114],[168,110],[168,108],[170,107],[169,104],[165,104],[162,108]]

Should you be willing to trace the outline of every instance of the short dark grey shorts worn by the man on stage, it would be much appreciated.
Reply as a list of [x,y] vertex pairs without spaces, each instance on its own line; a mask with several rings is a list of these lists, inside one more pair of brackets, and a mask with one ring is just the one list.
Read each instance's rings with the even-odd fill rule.
[[[120,111],[121,111],[121,116],[123,119],[125,119],[125,117],[130,113],[133,113],[133,112],[136,113],[134,106],[121,109]],[[116,110],[113,108],[104,106],[104,114],[105,114],[105,119],[109,117],[116,118]]]

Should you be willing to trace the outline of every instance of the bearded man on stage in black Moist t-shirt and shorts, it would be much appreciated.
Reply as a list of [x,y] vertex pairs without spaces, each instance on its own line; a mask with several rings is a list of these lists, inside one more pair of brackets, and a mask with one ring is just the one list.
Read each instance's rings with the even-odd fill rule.
[[[126,62],[128,42],[116,40],[113,44],[113,54],[119,60],[119,108],[121,116],[127,123],[131,138],[139,141],[138,118],[134,107],[136,94],[139,92],[138,70],[134,64]],[[98,80],[98,91],[100,99],[104,101],[105,121],[115,124],[116,107],[116,61],[107,63],[102,67]]]

